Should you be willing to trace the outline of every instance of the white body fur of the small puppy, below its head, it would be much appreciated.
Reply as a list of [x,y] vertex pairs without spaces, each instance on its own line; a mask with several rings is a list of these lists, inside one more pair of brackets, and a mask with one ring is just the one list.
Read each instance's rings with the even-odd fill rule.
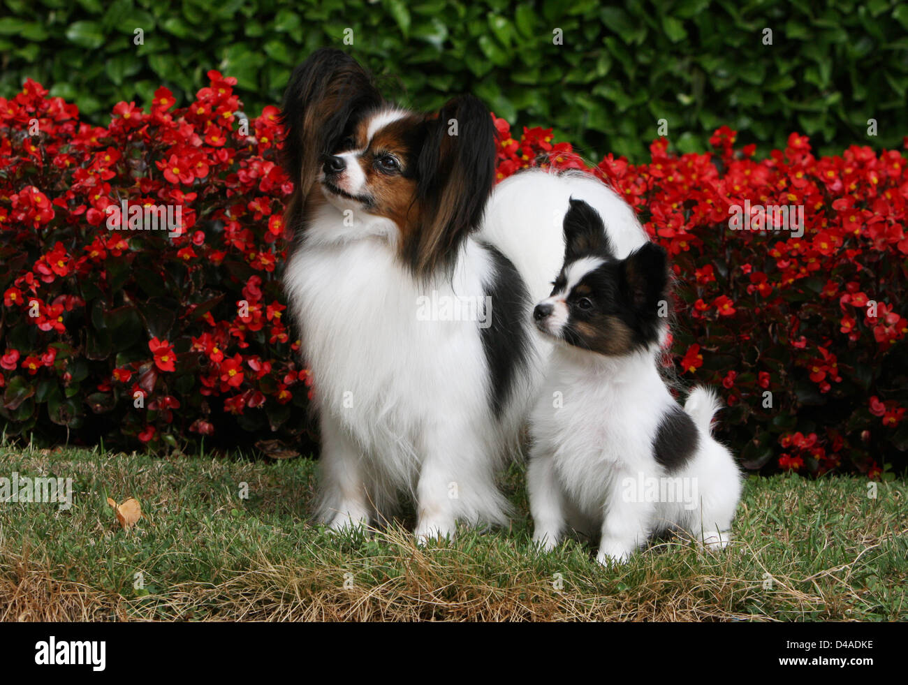
[[[533,539],[544,549],[569,528],[599,536],[600,563],[625,562],[651,534],[666,530],[686,531],[710,547],[729,542],[741,475],[710,435],[718,401],[706,388],[690,393],[685,411],[698,446],[685,465],[668,472],[656,462],[653,440],[676,400],[655,351],[605,357],[558,345],[552,355],[530,420],[527,474]],[[651,484],[666,482],[676,494],[694,494],[693,501],[663,498],[661,491],[646,496]]]

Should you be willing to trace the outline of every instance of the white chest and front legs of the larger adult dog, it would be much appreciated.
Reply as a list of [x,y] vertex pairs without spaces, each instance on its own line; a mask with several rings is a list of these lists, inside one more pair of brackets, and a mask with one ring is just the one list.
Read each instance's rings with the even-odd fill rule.
[[[322,444],[343,455],[325,462],[336,471],[323,517],[338,509],[364,520],[393,511],[404,492],[441,499],[458,517],[501,522],[506,506],[493,470],[523,409],[512,402],[505,416],[492,416],[486,399],[479,327],[488,251],[467,240],[449,278],[427,283],[401,269],[386,236],[318,238],[294,253],[285,283],[314,374]],[[362,508],[333,504],[350,501]],[[419,510],[426,530],[442,527],[447,514],[429,509]]]

